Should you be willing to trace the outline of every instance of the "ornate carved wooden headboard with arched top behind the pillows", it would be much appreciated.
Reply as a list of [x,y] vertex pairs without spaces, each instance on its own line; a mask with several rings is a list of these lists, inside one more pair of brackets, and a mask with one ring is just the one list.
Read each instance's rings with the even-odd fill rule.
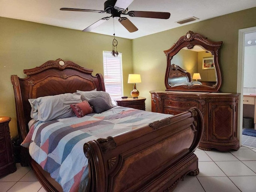
[[90,91],[97,88],[105,91],[102,74],[92,75],[93,70],[86,69],[71,61],[50,60],[39,67],[23,70],[26,78],[11,76],[16,102],[18,130],[21,139],[27,135],[30,121],[30,98],[74,93],[76,90]]

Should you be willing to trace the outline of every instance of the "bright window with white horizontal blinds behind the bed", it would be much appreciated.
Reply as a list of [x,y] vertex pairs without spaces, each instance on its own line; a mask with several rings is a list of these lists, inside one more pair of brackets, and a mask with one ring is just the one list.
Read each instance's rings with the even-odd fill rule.
[[116,104],[115,100],[123,96],[122,53],[114,57],[110,51],[103,51],[103,66],[106,92]]

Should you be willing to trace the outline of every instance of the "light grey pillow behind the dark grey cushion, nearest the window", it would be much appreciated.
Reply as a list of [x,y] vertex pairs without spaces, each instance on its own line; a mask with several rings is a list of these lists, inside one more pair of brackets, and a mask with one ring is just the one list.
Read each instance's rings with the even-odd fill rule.
[[88,101],[92,98],[95,98],[95,97],[102,97],[106,100],[106,102],[108,102],[108,104],[111,106],[111,107],[114,107],[116,105],[112,104],[112,101],[111,101],[111,98],[109,96],[109,94],[105,91],[79,91],[79,90],[76,90],[77,93],[80,93],[81,94],[81,99],[84,101]]

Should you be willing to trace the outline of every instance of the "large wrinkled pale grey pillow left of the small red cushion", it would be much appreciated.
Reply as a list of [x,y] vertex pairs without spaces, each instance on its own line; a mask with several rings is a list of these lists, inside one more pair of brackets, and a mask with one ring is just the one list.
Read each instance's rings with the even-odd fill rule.
[[33,110],[33,118],[34,120],[47,122],[54,119],[75,116],[76,114],[70,105],[82,102],[80,97],[80,94],[66,93],[29,99]]

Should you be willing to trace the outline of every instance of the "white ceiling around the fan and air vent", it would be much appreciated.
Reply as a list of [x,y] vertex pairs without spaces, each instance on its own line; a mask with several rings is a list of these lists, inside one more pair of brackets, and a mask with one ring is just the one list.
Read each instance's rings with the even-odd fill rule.
[[[82,31],[110,14],[61,11],[60,8],[104,10],[105,1],[0,0],[0,16]],[[199,22],[252,7],[256,7],[256,0],[134,0],[128,10],[170,12],[171,16],[167,20],[126,16],[138,28],[133,33],[128,32],[117,20],[113,22],[111,18],[92,32],[111,36],[115,32],[117,37],[134,39],[182,26],[176,21],[192,16],[199,18],[194,22]]]

